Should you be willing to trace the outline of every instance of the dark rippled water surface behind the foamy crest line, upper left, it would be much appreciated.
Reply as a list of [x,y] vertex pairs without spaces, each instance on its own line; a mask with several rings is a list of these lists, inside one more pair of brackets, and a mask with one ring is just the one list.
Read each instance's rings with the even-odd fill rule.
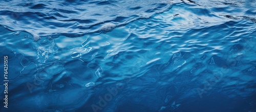
[[[93,33],[104,23],[122,26],[164,12],[171,6],[165,1],[26,2],[4,3],[0,13],[6,23],[2,25],[40,36]],[[6,10],[5,4],[13,4],[15,8]]]

